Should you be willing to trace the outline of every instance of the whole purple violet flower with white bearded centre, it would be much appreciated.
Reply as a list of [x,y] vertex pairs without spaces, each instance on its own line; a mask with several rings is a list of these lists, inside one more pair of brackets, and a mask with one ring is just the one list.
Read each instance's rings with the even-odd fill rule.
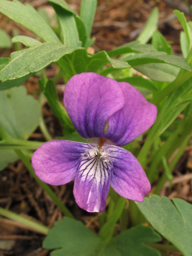
[[64,105],[88,143],[46,142],[32,157],[36,175],[52,185],[75,179],[75,200],[88,212],[104,210],[110,185],[121,196],[142,202],[150,182],[138,160],[120,146],[152,126],[156,106],[132,85],[95,73],[78,74],[68,81]]

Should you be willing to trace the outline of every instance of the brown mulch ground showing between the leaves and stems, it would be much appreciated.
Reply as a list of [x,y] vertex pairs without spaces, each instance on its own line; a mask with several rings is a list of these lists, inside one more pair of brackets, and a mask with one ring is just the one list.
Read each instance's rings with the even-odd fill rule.
[[[39,7],[46,8],[48,13],[52,15],[52,8],[46,0],[23,0],[21,2],[31,4],[36,9]],[[96,37],[93,45],[94,51],[111,50],[135,40],[150,12],[157,6],[160,12],[159,30],[168,41],[172,42],[175,54],[181,55],[179,35],[182,27],[172,12],[172,6],[167,4],[168,2],[163,0],[98,0],[92,29],[92,36]],[[68,3],[76,12],[79,12],[80,0],[71,0]],[[175,1],[175,3],[178,4],[179,10],[183,10],[182,1]],[[185,11],[189,14],[187,8]],[[192,20],[192,17],[188,15],[187,20]],[[8,32],[11,37],[16,29],[20,35],[37,38],[32,32],[2,14],[0,14],[0,28]],[[13,47],[2,49],[0,50],[0,57],[8,57],[12,51],[14,51]],[[58,69],[54,65],[46,70],[48,78],[53,77],[56,72]],[[40,91],[37,77],[31,77],[25,86],[29,94],[38,96]],[[61,102],[63,88],[64,81],[60,80],[57,90]],[[62,127],[46,102],[43,106],[43,116],[50,134],[53,137],[62,136]],[[40,129],[37,129],[30,139],[44,141]],[[173,174],[172,188],[169,189],[169,184],[166,183],[162,195],[166,195],[170,199],[179,197],[192,203],[192,146],[186,148]],[[0,172],[0,183],[0,207],[27,216],[48,227],[52,227],[56,220],[62,219],[62,212],[35,182],[21,161],[9,164]],[[96,214],[88,213],[77,206],[72,192],[73,182],[62,186],[51,186],[51,188],[78,220],[82,220],[86,226],[94,232],[98,232]],[[42,248],[43,239],[44,236],[0,217],[0,256],[47,256],[49,251]]]

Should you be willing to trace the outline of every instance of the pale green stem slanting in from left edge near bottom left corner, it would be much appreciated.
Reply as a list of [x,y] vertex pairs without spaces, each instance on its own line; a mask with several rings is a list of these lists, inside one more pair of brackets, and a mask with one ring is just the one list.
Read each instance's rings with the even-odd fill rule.
[[34,221],[34,220],[29,220],[28,218],[25,218],[23,216],[20,216],[19,214],[16,214],[14,212],[11,212],[9,210],[5,210],[4,208],[0,207],[0,215],[4,216],[10,220],[14,220],[16,222],[19,222],[25,226],[27,226],[28,228],[31,228],[41,234],[48,234],[48,230],[49,228],[47,228],[46,226],[39,224],[38,222]]

